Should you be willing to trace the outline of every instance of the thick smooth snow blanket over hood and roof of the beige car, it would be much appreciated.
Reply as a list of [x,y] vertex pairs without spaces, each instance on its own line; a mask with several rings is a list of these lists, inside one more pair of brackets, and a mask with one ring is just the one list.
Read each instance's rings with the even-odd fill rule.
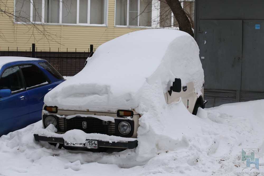
[[186,32],[149,29],[131,32],[98,47],[84,69],[49,92],[44,102],[72,110],[116,110],[138,106],[144,84],[161,81],[163,92],[175,78],[195,83],[204,75],[196,41]]

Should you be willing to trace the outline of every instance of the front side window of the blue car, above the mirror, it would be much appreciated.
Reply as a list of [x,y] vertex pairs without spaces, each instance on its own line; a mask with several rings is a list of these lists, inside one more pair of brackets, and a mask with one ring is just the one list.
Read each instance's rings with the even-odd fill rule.
[[23,78],[18,66],[8,68],[3,72],[0,89],[10,89],[12,93],[24,90]]

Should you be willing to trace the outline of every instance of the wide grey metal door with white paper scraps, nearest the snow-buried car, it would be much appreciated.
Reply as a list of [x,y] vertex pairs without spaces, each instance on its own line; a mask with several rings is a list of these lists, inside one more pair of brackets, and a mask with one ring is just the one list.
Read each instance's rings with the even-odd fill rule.
[[242,20],[200,20],[198,30],[207,107],[239,101]]

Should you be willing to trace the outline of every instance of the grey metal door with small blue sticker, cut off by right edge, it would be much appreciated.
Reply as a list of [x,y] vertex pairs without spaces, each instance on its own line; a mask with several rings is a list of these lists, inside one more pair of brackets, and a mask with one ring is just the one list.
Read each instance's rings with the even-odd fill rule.
[[264,99],[264,20],[243,20],[241,101]]

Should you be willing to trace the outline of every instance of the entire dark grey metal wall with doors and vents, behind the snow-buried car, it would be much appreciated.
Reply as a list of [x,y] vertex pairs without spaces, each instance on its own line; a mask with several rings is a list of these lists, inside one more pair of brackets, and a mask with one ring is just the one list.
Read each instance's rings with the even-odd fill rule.
[[195,8],[206,107],[264,99],[264,1],[196,0]]

